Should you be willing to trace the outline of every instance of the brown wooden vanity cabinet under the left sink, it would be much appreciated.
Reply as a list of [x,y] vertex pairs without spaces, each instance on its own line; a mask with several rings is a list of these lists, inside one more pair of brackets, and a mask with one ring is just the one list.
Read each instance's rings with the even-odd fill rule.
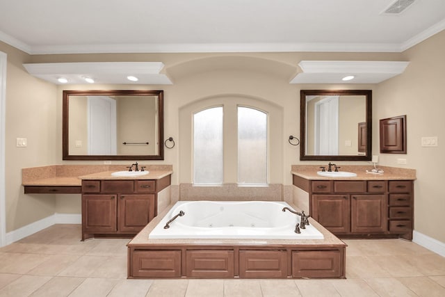
[[157,215],[159,180],[83,180],[82,240],[94,236],[132,237]]

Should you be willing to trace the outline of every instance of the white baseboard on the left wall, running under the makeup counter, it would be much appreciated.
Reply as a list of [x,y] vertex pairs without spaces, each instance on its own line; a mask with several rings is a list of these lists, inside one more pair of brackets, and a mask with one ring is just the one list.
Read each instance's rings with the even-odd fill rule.
[[53,214],[34,223],[6,233],[6,245],[19,241],[54,224],[81,224],[81,214]]

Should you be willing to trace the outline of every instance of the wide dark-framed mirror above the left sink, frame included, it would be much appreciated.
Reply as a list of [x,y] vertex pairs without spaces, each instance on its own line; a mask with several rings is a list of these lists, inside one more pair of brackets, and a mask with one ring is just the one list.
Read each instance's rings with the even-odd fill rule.
[[64,90],[63,160],[163,160],[163,90]]

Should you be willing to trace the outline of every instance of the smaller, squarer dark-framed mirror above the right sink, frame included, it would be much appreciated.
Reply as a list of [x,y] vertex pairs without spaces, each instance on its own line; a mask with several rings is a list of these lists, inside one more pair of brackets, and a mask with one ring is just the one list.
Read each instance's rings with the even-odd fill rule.
[[371,161],[372,90],[301,90],[300,160]]

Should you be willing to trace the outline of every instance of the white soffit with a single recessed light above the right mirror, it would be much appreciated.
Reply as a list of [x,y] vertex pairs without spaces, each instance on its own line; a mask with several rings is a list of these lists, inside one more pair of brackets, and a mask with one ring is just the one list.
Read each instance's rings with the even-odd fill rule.
[[[403,61],[300,61],[302,72],[291,83],[380,83],[403,73]],[[343,81],[343,77],[354,79]]]

